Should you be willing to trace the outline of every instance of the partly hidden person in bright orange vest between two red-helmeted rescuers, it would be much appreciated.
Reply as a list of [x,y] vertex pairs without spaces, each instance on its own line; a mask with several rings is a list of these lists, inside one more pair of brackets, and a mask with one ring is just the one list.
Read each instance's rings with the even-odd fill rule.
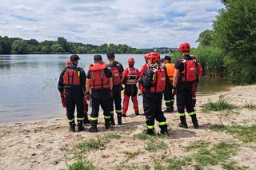
[[164,99],[166,101],[166,113],[174,112],[174,94],[173,90],[173,80],[174,80],[174,64],[171,63],[170,56],[165,56],[163,58],[163,69],[166,71],[166,89],[164,91]]

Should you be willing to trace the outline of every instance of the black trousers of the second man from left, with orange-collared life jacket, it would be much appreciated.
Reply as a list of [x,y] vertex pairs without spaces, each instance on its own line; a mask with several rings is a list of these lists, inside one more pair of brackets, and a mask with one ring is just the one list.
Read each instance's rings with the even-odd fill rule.
[[90,121],[98,120],[98,111],[99,106],[102,107],[104,117],[106,119],[110,118],[110,90],[102,89],[102,90],[93,90],[91,95],[91,114]]

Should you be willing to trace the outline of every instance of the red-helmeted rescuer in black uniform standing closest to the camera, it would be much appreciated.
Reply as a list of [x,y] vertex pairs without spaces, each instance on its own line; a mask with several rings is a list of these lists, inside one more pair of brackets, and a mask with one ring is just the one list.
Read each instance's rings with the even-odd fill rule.
[[162,112],[162,93],[166,87],[166,72],[160,65],[160,54],[149,53],[149,69],[143,74],[143,109],[146,116],[146,134],[155,135],[154,121],[159,122],[161,133],[168,135],[166,117]]

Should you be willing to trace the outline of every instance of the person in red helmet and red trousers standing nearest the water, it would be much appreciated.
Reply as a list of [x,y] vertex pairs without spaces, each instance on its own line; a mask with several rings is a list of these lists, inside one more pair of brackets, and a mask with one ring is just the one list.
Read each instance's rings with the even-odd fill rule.
[[134,58],[128,58],[129,68],[126,68],[122,73],[122,84],[125,85],[125,92],[123,98],[123,106],[122,106],[122,117],[126,117],[126,112],[129,106],[129,100],[131,97],[131,101],[134,103],[134,112],[136,115],[139,115],[138,112],[138,87],[137,82],[140,76],[138,69],[134,68]]

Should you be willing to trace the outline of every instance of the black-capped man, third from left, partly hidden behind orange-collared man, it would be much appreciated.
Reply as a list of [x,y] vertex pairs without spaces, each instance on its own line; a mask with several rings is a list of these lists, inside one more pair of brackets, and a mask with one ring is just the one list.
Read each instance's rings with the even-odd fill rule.
[[110,63],[107,67],[110,69],[113,77],[113,97],[110,99],[110,123],[111,125],[115,125],[114,123],[114,106],[115,106],[115,113],[118,116],[118,125],[122,125],[122,98],[121,98],[121,91],[122,91],[122,72],[123,67],[122,64],[118,61],[115,61],[114,53],[107,53],[107,59]]

